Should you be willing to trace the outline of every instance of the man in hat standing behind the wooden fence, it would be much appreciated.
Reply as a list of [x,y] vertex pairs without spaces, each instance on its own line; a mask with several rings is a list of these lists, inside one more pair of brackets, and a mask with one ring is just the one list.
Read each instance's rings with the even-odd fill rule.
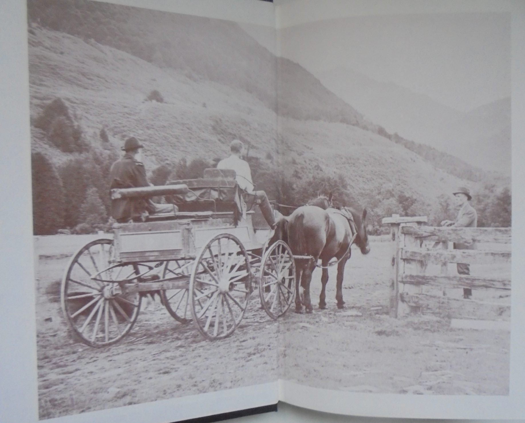
[[[472,208],[469,201],[472,199],[470,191],[465,187],[459,187],[454,194],[456,205],[459,206],[459,212],[456,220],[444,220],[441,222],[442,226],[455,226],[456,228],[476,228],[478,226],[478,214],[476,210]],[[454,243],[454,249],[456,250],[474,250],[474,242],[470,243]],[[466,263],[457,263],[457,270],[460,275],[469,275],[470,266]],[[470,288],[463,288],[463,297],[470,298],[472,296],[472,290]]]

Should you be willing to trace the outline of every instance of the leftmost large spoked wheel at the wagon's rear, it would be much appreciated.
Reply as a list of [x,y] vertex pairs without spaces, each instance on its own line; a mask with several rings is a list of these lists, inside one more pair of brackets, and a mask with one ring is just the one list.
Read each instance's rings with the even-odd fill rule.
[[122,294],[119,284],[131,280],[141,264],[113,263],[113,241],[99,239],[83,246],[69,262],[61,285],[62,312],[80,340],[93,347],[118,342],[139,315],[139,293]]

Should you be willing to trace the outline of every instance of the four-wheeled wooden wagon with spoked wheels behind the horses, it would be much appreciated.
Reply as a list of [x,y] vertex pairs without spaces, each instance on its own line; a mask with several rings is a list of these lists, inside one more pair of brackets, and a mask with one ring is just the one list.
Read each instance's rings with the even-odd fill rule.
[[208,339],[235,331],[256,288],[271,318],[288,310],[296,293],[292,252],[283,241],[268,245],[268,225],[258,210],[246,210],[234,176],[207,169],[203,179],[113,190],[113,198],[172,195],[179,211],[116,223],[113,239],[72,256],[61,304],[83,343],[120,341],[145,294],[158,293],[173,318],[193,321]]

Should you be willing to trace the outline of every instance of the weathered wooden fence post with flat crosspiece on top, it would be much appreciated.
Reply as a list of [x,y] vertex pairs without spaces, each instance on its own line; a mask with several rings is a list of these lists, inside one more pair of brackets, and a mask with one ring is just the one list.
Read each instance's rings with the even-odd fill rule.
[[[391,218],[383,218],[382,223],[390,225],[390,238],[392,243],[391,261],[390,261],[390,316],[398,317],[409,312],[407,304],[400,302],[400,275],[403,274],[404,265],[400,259],[400,251],[404,239],[401,234],[402,224],[419,225],[426,222],[426,216],[401,217],[398,214],[392,214]],[[404,235],[403,235],[404,236]]]

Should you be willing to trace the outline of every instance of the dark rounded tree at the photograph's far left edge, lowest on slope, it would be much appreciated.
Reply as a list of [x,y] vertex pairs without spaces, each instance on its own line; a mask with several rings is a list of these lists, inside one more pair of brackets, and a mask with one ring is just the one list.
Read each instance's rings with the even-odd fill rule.
[[55,234],[64,225],[64,189],[53,164],[40,152],[31,154],[33,233]]

